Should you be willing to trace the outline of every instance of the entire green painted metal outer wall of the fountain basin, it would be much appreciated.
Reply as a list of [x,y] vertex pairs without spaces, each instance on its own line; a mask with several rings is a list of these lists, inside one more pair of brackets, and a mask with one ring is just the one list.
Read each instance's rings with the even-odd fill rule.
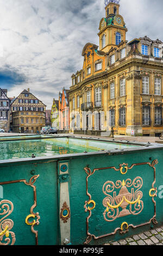
[[59,245],[68,237],[72,245],[99,245],[158,227],[163,223],[162,150],[1,162],[1,213],[7,205],[11,212],[0,215],[0,233],[8,223],[9,244]]

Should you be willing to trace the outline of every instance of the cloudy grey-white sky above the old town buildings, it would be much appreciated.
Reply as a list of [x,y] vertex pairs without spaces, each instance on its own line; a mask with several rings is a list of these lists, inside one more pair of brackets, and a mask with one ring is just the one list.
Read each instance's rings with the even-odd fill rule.
[[[163,41],[162,0],[121,0],[127,40]],[[82,69],[87,42],[99,45],[104,0],[0,0],[0,87],[8,96],[30,88],[51,108]]]

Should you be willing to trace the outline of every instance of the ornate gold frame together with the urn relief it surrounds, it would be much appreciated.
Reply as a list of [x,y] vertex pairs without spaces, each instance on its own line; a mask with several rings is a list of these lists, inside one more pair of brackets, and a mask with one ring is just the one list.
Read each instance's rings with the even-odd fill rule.
[[[89,216],[86,217],[86,234],[87,238],[84,242],[85,245],[91,242],[92,238],[97,240],[101,239],[106,236],[114,235],[118,231],[120,234],[125,234],[129,231],[129,228],[137,228],[137,227],[142,227],[143,225],[151,224],[158,224],[156,221],[156,202],[154,198],[156,197],[157,193],[157,188],[154,187],[155,182],[156,182],[156,167],[155,165],[158,164],[158,160],[154,160],[152,163],[151,162],[142,162],[142,163],[133,163],[131,166],[128,166],[128,163],[122,163],[119,164],[119,168],[116,168],[115,166],[110,166],[110,167],[101,167],[101,168],[95,168],[91,171],[89,167],[85,167],[85,173],[86,173],[86,195],[89,197],[87,201],[85,201],[84,208],[85,212],[89,212]],[[90,186],[89,186],[89,179],[91,178],[92,175],[95,175],[97,172],[101,172],[104,170],[115,170],[115,172],[120,172],[120,174],[124,175],[130,172],[131,169],[135,166],[149,166],[153,169],[153,174],[154,174],[154,180],[152,181],[152,188],[147,192],[149,194],[149,199],[152,198],[152,203],[153,203],[153,212],[149,212],[149,215],[152,215],[148,221],[143,222],[143,220],[140,220],[139,224],[132,224],[128,222],[122,222],[121,225],[118,225],[118,227],[115,228],[114,231],[110,230],[110,233],[108,234],[103,234],[103,235],[95,235],[91,233],[90,226],[92,225],[92,210],[95,211],[94,214],[96,214],[96,211],[99,214],[99,210],[101,212],[101,208],[99,208],[99,202],[97,204],[95,201],[92,200]],[[128,173],[129,174],[129,173]],[[91,180],[90,180],[91,181]],[[146,182],[146,180],[144,181]],[[149,181],[148,181],[149,183]],[[137,176],[133,181],[131,179],[126,179],[126,180],[117,180],[115,183],[111,180],[106,181],[104,183],[103,189],[101,190],[102,194],[105,194],[105,198],[102,201],[102,204],[105,207],[105,210],[103,212],[103,218],[104,221],[106,222],[111,222],[116,220],[117,218],[120,218],[119,221],[121,221],[121,217],[124,216],[129,216],[129,215],[139,215],[140,212],[142,212],[144,204],[142,201],[143,193],[141,191],[143,185],[143,180],[140,176]],[[146,194],[144,196],[143,200],[148,200],[146,197]],[[151,200],[149,200],[151,202]],[[87,205],[90,205],[87,206]],[[96,206],[96,207],[95,207]],[[133,218],[128,218],[128,220],[131,220]],[[141,217],[140,217],[141,219]],[[118,222],[118,220],[116,220]]]

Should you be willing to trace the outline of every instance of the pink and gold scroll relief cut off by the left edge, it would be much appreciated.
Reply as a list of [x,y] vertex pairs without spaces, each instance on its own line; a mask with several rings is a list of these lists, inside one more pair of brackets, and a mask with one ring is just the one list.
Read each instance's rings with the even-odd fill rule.
[[[15,233],[10,231],[14,226],[14,222],[9,218],[6,219],[14,210],[14,205],[9,200],[2,200],[0,205],[0,212],[3,209],[3,212],[0,213],[3,216],[0,220],[0,245],[14,245],[16,240]],[[3,239],[5,242],[3,242]]]

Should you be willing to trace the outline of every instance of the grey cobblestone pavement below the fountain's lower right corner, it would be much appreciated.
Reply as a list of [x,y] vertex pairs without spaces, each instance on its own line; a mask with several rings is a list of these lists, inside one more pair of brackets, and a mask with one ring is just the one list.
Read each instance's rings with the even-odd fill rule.
[[133,235],[104,245],[163,245],[163,225],[160,228],[151,229],[139,235]]

